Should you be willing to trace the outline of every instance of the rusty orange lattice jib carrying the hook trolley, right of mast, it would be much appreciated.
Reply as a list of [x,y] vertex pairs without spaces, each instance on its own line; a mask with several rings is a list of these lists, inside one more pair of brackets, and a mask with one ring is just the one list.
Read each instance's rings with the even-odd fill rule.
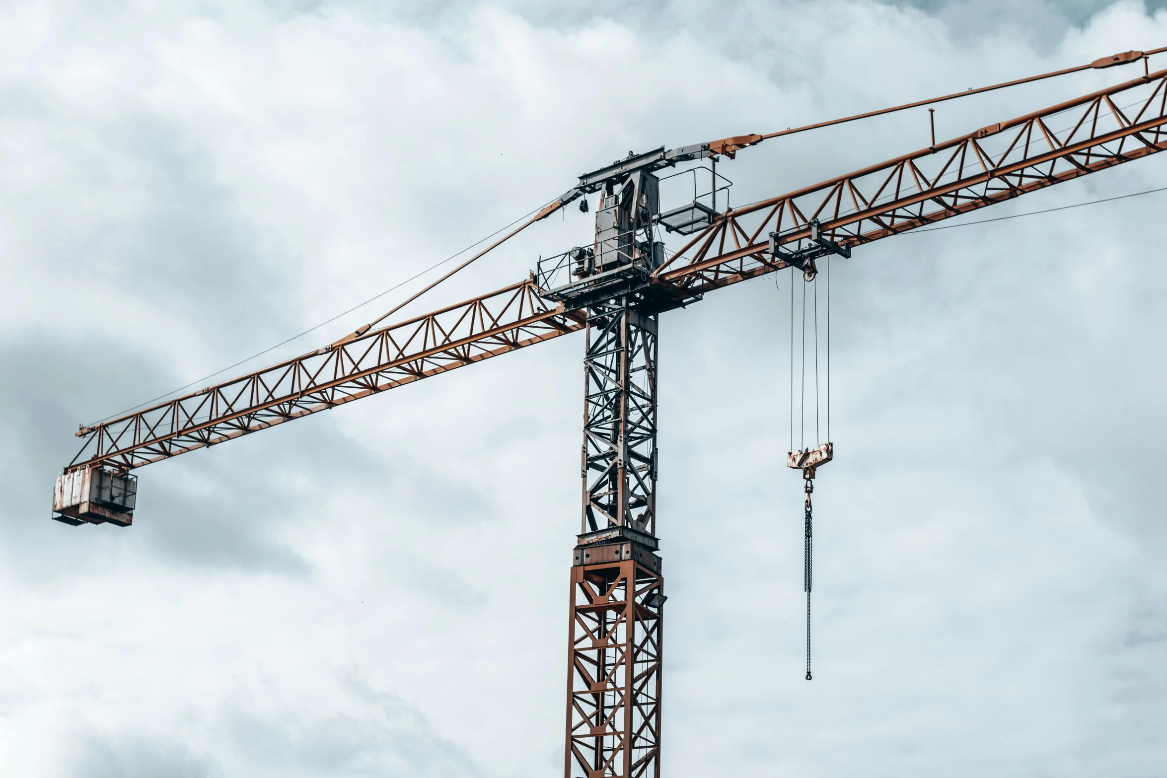
[[654,273],[684,295],[790,262],[819,234],[851,248],[1167,149],[1167,70],[778,197],[727,210]]

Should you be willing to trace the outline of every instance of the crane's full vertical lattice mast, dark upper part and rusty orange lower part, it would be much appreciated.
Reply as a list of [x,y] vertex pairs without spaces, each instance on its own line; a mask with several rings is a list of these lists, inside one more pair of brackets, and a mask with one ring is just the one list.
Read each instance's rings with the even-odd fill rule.
[[659,778],[662,605],[656,555],[657,322],[647,274],[657,180],[609,183],[592,248],[573,250],[587,310],[582,506],[572,566],[565,778]]

